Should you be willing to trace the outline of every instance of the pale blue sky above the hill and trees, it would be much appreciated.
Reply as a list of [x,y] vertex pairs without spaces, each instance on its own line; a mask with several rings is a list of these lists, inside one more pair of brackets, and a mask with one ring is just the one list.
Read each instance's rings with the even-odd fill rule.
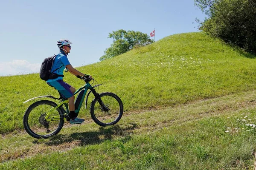
[[155,28],[157,41],[198,31],[196,17],[205,15],[194,0],[1,0],[0,76],[39,71],[44,58],[58,54],[62,38],[73,42],[68,59],[77,67],[99,62],[112,31],[149,35]]

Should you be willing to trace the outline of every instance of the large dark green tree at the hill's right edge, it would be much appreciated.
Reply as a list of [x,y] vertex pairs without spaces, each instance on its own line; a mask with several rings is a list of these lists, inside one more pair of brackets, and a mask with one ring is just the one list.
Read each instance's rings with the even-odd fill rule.
[[195,0],[208,18],[200,30],[256,53],[255,0]]

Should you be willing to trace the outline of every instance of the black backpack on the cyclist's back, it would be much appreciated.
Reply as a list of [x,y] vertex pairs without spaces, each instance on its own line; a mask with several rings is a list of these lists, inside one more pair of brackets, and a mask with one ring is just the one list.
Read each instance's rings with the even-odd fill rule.
[[[64,77],[64,75],[59,75],[56,73],[51,73],[51,69],[52,69],[52,65],[53,65],[53,61],[55,59],[56,55],[52,56],[52,57],[48,57],[46,59],[44,59],[44,61],[42,62],[41,68],[40,68],[40,78],[42,80],[48,80],[48,79],[56,79],[57,77]],[[62,67],[62,66],[61,66]],[[59,68],[61,68],[59,67]],[[58,70],[59,68],[55,69],[54,71]],[[54,72],[52,71],[52,72]]]

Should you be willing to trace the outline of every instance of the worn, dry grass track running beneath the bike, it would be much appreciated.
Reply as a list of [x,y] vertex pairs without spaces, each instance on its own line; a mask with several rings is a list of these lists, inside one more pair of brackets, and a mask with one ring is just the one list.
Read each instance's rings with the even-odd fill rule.
[[93,121],[83,125],[64,127],[57,136],[34,139],[22,130],[3,135],[0,139],[0,162],[32,157],[37,154],[65,152],[75,147],[99,144],[120,136],[160,130],[163,127],[184,125],[187,122],[227,114],[247,108],[256,108],[256,91],[189,102],[157,110],[125,112],[121,121],[112,127],[99,127]]

